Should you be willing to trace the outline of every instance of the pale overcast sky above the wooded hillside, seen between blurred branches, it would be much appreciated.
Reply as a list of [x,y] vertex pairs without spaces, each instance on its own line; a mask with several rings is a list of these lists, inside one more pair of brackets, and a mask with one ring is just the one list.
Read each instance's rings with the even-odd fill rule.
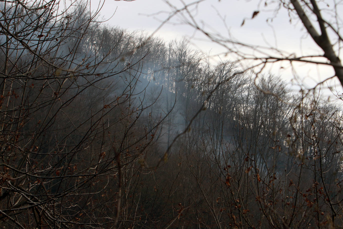
[[[101,1],[103,2],[103,1]],[[184,0],[191,3],[193,1]],[[289,54],[299,55],[321,54],[318,46],[311,38],[306,36],[302,24],[293,20],[289,23],[287,11],[281,9],[275,15],[275,5],[257,5],[259,1],[244,0],[207,0],[199,4],[196,8],[189,8],[195,20],[203,26],[206,31],[221,34],[223,37],[235,37],[238,41],[261,46],[272,46],[284,50]],[[182,7],[181,1],[171,0],[176,7]],[[91,1],[91,8],[95,9],[99,4],[98,0]],[[114,13],[114,11],[116,12]],[[251,20],[252,13],[259,10],[260,13]],[[152,33],[161,23],[168,18],[173,9],[163,0],[135,0],[135,1],[114,1],[106,0],[100,14],[106,23],[113,26],[125,28],[128,31],[144,30]],[[273,20],[271,21],[271,18]],[[242,21],[245,20],[243,26]],[[269,19],[269,23],[266,20]],[[209,42],[200,32],[195,32],[194,28],[183,23],[183,19],[176,15],[164,24],[157,32],[156,36],[162,37],[165,41],[184,36],[190,39],[194,48],[200,49],[205,54],[216,56],[227,50],[213,42]],[[204,41],[207,40],[207,41]],[[234,59],[230,53],[223,59]],[[218,58],[212,58],[215,62]],[[246,64],[245,64],[246,66]],[[330,67],[324,68],[316,65],[296,64],[297,73],[302,83],[312,87],[315,82],[321,81],[333,75]],[[288,82],[293,78],[288,63],[280,63],[269,66],[265,71],[271,71],[275,75],[280,75]],[[338,84],[338,83],[336,83]],[[330,85],[334,85],[330,82]]]

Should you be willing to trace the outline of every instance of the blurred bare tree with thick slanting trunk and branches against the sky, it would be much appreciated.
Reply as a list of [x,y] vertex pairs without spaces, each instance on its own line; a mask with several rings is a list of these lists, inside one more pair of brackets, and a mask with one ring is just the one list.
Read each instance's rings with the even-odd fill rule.
[[[178,22],[182,24],[188,24],[193,27],[194,30],[200,31],[204,36],[208,37],[213,43],[216,43],[224,48],[221,52],[225,55],[229,55],[230,58],[234,58],[240,61],[244,70],[253,69],[256,73],[256,77],[260,75],[265,69],[269,69],[277,62],[285,63],[287,61],[289,66],[293,68],[292,73],[296,74],[300,68],[297,68],[295,64],[309,63],[319,66],[331,66],[334,70],[334,75],[325,75],[325,79],[318,84],[322,84],[328,79],[335,76],[338,77],[341,84],[342,78],[342,63],[340,60],[341,48],[342,48],[342,19],[340,11],[342,11],[342,3],[336,1],[249,1],[246,4],[251,6],[256,2],[256,9],[252,12],[247,12],[246,16],[238,18],[242,21],[241,26],[244,28],[245,22],[248,20],[256,20],[260,16],[266,16],[266,25],[273,27],[273,31],[277,30],[277,25],[273,25],[273,19],[278,16],[288,14],[289,23],[297,24],[302,23],[305,28],[305,35],[299,35],[299,42],[303,37],[309,36],[320,48],[320,53],[313,51],[317,49],[313,47],[309,54],[301,54],[300,52],[291,53],[289,50],[283,50],[276,44],[278,43],[278,37],[272,37],[270,39],[265,38],[266,45],[256,44],[255,39],[251,39],[251,42],[243,42],[239,38],[235,38],[234,28],[230,28],[229,22],[225,21],[225,15],[221,15],[221,11],[218,9],[217,15],[213,13],[214,17],[223,20],[223,25],[227,28],[227,31],[214,31],[212,26],[206,24],[201,20],[198,20],[198,8],[201,8],[202,4],[205,4],[203,0],[200,1],[188,1],[182,2],[181,7],[177,7],[173,2],[164,0],[171,8],[169,18],[172,20],[175,15],[178,16]],[[220,3],[218,3],[220,6]],[[270,12],[273,12],[272,15]],[[250,16],[252,15],[252,16]],[[236,19],[237,20],[237,19]],[[275,28],[274,28],[275,26]],[[263,31],[261,31],[263,32]],[[228,34],[228,35],[226,35]],[[274,34],[275,35],[275,34]],[[275,39],[275,40],[274,40]],[[275,43],[275,44],[274,44]],[[279,42],[280,43],[280,42]],[[286,66],[286,65],[284,65]],[[295,75],[294,75],[295,76]],[[299,76],[304,77],[304,76]],[[297,79],[297,78],[296,78]],[[318,86],[316,85],[316,87]],[[304,86],[300,83],[302,89],[307,89],[308,86]]]

